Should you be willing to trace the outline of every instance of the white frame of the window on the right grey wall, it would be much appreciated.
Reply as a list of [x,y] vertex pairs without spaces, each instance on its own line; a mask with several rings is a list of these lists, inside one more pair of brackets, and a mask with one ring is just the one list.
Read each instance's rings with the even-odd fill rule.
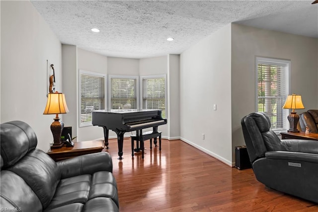
[[[282,95],[282,104],[284,104],[287,95],[290,94],[290,75],[291,75],[291,61],[287,59],[277,59],[277,58],[269,58],[269,57],[255,57],[255,111],[258,111],[258,64],[263,63],[266,65],[279,65],[284,66],[285,71],[285,94]],[[289,122],[287,116],[289,114],[289,110],[282,109],[282,128],[271,128],[276,133],[280,131],[287,130],[289,128]],[[272,127],[272,126],[271,126]]]

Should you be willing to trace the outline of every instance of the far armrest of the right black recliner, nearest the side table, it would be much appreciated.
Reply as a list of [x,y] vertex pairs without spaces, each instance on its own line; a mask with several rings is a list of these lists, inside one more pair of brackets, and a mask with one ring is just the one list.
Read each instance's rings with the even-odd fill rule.
[[281,140],[287,151],[318,154],[318,141],[284,139]]

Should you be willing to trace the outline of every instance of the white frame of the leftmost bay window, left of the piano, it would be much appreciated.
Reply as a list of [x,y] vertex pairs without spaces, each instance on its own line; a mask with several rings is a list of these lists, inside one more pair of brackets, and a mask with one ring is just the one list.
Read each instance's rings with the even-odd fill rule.
[[107,106],[107,93],[106,93],[106,88],[107,88],[107,75],[106,74],[101,74],[98,72],[92,72],[92,71],[86,71],[79,69],[79,127],[85,127],[85,126],[92,126],[91,121],[86,121],[86,122],[81,122],[81,93],[80,93],[80,88],[81,88],[81,75],[88,75],[88,76],[93,76],[93,77],[100,77],[104,78],[104,109]]

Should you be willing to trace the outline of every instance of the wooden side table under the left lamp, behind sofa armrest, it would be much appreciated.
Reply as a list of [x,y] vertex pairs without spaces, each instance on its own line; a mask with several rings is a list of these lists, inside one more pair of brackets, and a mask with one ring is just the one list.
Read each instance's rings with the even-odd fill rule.
[[101,140],[74,142],[73,147],[63,146],[58,149],[50,149],[47,154],[55,161],[73,158],[79,155],[101,152],[104,142]]

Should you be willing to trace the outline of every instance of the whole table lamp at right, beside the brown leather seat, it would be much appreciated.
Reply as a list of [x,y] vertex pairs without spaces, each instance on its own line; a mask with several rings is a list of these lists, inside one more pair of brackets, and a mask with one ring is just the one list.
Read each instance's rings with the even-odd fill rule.
[[290,128],[287,130],[288,132],[299,132],[297,129],[297,123],[299,121],[299,115],[295,112],[295,109],[305,109],[302,96],[292,94],[288,95],[285,105],[283,106],[284,109],[293,109],[293,111],[287,116]]

